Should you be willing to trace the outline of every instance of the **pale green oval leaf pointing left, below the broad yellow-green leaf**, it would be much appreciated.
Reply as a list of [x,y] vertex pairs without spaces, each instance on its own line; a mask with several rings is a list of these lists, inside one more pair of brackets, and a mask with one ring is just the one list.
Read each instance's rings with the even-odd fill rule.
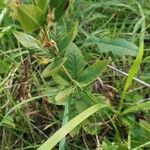
[[27,47],[27,48],[41,48],[42,47],[42,43],[40,43],[40,41],[38,41],[37,39],[35,39],[29,34],[15,31],[14,36],[16,37],[18,42],[20,42],[24,47]]

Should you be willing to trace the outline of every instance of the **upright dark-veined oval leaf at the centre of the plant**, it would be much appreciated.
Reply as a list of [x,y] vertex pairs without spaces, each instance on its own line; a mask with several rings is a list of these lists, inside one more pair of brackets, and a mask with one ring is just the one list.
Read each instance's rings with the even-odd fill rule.
[[65,68],[73,79],[77,79],[85,66],[81,51],[74,43],[71,43],[66,50],[65,57],[67,58],[64,64]]

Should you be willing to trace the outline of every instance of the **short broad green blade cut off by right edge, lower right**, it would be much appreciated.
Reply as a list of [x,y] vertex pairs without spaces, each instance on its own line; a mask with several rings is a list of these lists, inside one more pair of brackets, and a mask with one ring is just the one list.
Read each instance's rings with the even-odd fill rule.
[[147,111],[147,110],[150,110],[150,101],[135,104],[134,106],[125,109],[121,114],[126,115],[128,113],[133,113],[137,111]]

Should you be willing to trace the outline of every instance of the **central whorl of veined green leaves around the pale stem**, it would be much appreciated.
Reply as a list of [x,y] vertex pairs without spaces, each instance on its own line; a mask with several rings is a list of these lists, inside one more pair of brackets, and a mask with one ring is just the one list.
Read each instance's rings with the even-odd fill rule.
[[63,87],[55,97],[55,100],[60,104],[74,92],[75,87],[85,87],[95,80],[108,63],[107,60],[98,60],[85,69],[84,57],[80,49],[71,43],[66,50],[65,57],[55,59],[50,63],[43,70],[42,77],[52,76],[56,83]]

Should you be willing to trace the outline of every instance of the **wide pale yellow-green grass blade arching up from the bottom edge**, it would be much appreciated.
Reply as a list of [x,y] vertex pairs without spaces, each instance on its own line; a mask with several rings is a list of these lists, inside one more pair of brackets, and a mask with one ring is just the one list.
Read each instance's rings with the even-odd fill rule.
[[52,149],[61,139],[63,139],[71,130],[73,130],[76,126],[82,123],[89,116],[93,115],[98,110],[105,108],[107,106],[102,104],[96,104],[86,109],[73,119],[71,119],[68,123],[66,123],[63,127],[61,127],[57,132],[55,132],[45,143],[43,143],[37,150],[50,150]]

